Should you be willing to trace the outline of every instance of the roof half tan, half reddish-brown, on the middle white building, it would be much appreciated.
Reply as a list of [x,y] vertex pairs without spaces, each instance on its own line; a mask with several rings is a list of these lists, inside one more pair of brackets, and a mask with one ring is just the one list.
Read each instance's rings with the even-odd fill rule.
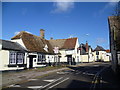
[[59,49],[74,49],[76,41],[77,38],[49,40],[52,47],[59,47]]

